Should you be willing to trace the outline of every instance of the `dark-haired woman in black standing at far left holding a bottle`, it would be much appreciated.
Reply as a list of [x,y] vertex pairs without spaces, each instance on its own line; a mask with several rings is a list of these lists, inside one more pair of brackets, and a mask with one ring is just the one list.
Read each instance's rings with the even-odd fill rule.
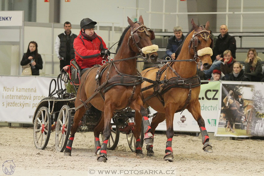
[[38,44],[31,41],[28,45],[28,50],[24,53],[20,65],[27,65],[31,63],[32,75],[39,75],[39,69],[43,68],[43,61],[38,53]]

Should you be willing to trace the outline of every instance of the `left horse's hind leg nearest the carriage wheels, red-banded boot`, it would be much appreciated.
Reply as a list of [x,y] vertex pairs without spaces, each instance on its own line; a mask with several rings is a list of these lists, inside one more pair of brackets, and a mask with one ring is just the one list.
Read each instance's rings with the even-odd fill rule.
[[85,111],[86,111],[85,107],[82,106],[74,114],[73,124],[71,126],[71,136],[67,142],[67,145],[66,145],[66,148],[64,151],[64,156],[71,156],[71,147],[72,147],[73,139],[74,139],[75,133],[79,127],[79,122],[80,122],[81,118],[83,117]]

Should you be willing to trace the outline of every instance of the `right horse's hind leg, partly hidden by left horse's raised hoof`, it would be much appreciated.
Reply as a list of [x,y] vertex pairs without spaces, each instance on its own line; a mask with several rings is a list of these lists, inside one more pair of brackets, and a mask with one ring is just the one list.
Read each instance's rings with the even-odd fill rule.
[[[157,128],[158,124],[163,122],[165,120],[165,114],[157,112],[153,118],[152,118],[152,122],[151,122],[151,133],[154,137],[154,132],[155,129]],[[154,138],[153,138],[153,144],[154,144]],[[153,145],[147,145],[146,146],[146,150],[147,150],[147,156],[154,156],[154,151],[153,151]]]

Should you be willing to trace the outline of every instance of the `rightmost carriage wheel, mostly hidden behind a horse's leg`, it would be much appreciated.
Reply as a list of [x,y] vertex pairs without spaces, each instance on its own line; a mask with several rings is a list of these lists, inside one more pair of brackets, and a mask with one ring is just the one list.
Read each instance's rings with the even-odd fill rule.
[[[131,117],[127,120],[127,122],[134,122],[134,117]],[[134,129],[130,130],[130,133],[126,134],[128,146],[131,151],[136,152],[136,138],[134,137]],[[143,122],[141,122],[141,133],[140,133],[140,147],[143,147],[144,143],[144,125]]]

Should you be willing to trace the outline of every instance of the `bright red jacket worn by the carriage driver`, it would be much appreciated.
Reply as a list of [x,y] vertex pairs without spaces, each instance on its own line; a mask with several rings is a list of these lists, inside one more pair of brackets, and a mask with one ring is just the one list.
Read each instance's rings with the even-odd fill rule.
[[102,48],[107,49],[106,44],[101,37],[97,36],[90,41],[81,34],[81,31],[74,39],[73,48],[75,50],[75,61],[81,69],[90,68],[97,64],[102,65],[103,59],[100,52]]

